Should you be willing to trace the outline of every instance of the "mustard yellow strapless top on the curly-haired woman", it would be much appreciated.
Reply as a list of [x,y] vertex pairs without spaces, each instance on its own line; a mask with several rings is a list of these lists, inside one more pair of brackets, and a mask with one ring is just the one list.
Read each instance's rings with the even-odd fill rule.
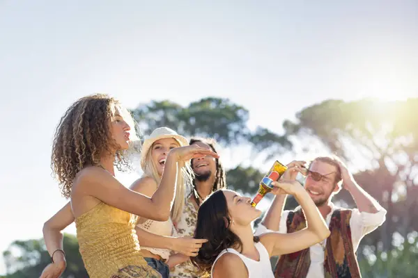
[[90,278],[161,277],[139,252],[137,216],[100,202],[75,219],[79,252]]

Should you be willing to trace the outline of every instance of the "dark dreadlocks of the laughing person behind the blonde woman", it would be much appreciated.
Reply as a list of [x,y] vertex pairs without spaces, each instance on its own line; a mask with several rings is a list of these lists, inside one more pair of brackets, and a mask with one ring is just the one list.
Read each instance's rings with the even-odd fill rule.
[[[210,149],[212,149],[213,152],[218,153],[217,149],[216,149],[216,145],[217,142],[214,138],[201,138],[201,137],[192,137],[189,140],[189,145],[193,145],[196,142],[202,142],[203,144],[206,144],[210,147]],[[219,161],[219,158],[215,159],[216,161],[216,172],[215,172],[215,181],[213,183],[213,187],[212,187],[212,192],[215,192],[219,189],[224,189],[226,188],[226,177],[225,177],[225,168],[224,165],[222,165],[221,161]],[[191,165],[193,165],[193,160],[191,161]],[[199,193],[197,193],[197,188],[196,188],[196,178],[193,179],[192,181],[192,186],[193,186],[193,192],[194,192],[194,197],[196,197],[196,203],[198,206],[201,205],[200,202],[200,196]]]

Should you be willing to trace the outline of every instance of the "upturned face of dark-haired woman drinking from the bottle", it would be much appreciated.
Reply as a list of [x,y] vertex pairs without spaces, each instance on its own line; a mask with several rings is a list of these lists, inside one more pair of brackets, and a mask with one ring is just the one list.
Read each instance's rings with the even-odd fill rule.
[[243,197],[233,190],[222,190],[228,213],[234,224],[238,226],[247,226],[260,217],[261,211],[251,206],[251,198]]

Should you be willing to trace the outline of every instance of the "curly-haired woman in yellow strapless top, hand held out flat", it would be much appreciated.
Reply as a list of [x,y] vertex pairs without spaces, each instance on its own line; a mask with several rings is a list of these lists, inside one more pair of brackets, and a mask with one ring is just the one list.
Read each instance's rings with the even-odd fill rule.
[[[160,185],[152,197],[125,188],[114,177],[114,165],[127,165],[132,119],[107,95],[75,101],[61,118],[52,147],[52,167],[61,191],[71,201],[59,213],[75,219],[79,250],[91,278],[161,277],[140,254],[137,216],[169,219],[178,163],[217,154],[196,146],[178,147],[167,155]],[[57,214],[59,214],[57,213]],[[65,269],[60,233],[47,243],[52,263],[41,277],[59,277]]]

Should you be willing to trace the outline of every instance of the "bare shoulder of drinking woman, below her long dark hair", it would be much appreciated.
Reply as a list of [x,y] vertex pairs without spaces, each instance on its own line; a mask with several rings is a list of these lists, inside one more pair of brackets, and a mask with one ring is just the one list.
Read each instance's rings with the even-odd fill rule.
[[244,262],[238,255],[226,253],[223,254],[213,266],[212,277],[248,277],[248,271]]

